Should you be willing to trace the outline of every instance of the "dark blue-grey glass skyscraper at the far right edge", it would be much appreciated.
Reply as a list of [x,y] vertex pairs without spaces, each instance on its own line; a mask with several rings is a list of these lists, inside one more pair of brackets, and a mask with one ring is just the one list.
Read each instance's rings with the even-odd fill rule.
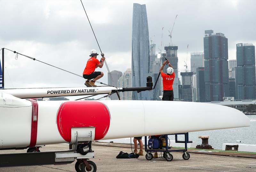
[[255,99],[255,46],[236,44],[236,99]]

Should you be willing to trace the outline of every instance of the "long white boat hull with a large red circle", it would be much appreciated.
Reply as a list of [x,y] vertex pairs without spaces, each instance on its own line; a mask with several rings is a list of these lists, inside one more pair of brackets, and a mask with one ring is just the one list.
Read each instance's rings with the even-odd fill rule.
[[[32,147],[32,140],[35,145],[69,143],[75,127],[95,127],[94,140],[106,140],[250,126],[241,111],[216,104],[134,100],[37,103],[35,132],[31,102],[0,92],[0,148]],[[156,121],[165,123],[159,127]]]

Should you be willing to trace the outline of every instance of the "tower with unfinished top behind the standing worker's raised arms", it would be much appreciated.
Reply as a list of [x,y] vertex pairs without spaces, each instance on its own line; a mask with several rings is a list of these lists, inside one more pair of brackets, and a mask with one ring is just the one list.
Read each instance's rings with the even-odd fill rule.
[[[173,88],[173,96],[174,99],[179,99],[179,85],[178,85],[178,55],[177,55],[177,50],[178,46],[168,46],[164,47],[165,50],[165,57],[169,59],[170,64],[172,65],[175,73],[175,78],[172,84]],[[168,68],[168,65],[165,65],[163,72],[166,73],[166,69]],[[183,83],[182,83],[183,84]]]

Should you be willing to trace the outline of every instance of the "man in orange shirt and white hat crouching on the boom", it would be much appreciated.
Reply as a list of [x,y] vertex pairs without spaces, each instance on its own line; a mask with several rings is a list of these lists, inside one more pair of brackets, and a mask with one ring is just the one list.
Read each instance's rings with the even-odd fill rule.
[[91,58],[87,61],[86,67],[84,68],[84,72],[83,72],[84,79],[87,79],[84,85],[86,85],[87,87],[96,87],[97,85],[94,84],[95,81],[100,79],[104,74],[103,72],[95,72],[95,68],[103,67],[105,57],[104,57],[104,54],[102,53],[101,54],[102,58],[99,61],[97,59],[97,55],[99,54],[97,54],[97,51],[95,49],[92,49],[90,54],[91,54],[90,55]]

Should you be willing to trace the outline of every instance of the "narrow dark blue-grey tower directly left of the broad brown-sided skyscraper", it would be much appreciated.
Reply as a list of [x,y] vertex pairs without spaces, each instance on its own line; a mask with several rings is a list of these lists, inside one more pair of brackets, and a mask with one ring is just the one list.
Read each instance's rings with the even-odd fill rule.
[[197,102],[205,102],[204,68],[196,69]]

